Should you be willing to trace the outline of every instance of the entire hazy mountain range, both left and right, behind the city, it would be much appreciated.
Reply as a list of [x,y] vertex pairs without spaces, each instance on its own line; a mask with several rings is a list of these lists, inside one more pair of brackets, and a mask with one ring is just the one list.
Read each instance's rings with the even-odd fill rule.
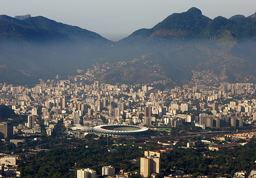
[[[75,75],[95,63],[128,62],[102,82],[256,82],[256,13],[213,20],[197,8],[173,13],[118,42],[45,17],[0,15],[0,82]],[[141,58],[141,56],[144,56]],[[135,62],[134,58],[140,59]]]

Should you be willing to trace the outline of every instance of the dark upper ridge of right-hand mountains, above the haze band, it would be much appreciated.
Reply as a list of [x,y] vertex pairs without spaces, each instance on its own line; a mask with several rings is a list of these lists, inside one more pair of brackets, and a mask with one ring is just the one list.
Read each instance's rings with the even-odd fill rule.
[[[254,24],[256,21],[252,19],[254,15],[247,18],[242,17],[244,16],[235,15],[227,19],[219,16],[212,20],[205,17],[199,9],[191,8],[183,13],[173,13],[151,29],[137,30],[120,40],[119,43],[136,43],[136,40],[141,39],[143,43],[145,39],[148,39],[149,43],[155,39],[210,39],[212,36],[222,35],[228,30],[240,39],[247,38],[248,35],[249,37],[255,36]],[[239,35],[240,33],[242,35]]]

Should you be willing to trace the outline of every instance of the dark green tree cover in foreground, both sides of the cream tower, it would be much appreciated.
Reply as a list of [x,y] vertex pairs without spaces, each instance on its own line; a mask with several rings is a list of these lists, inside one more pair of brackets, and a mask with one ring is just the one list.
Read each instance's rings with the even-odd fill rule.
[[[109,138],[109,142],[111,139]],[[127,141],[126,146],[109,146],[118,152],[108,152],[106,138],[101,138],[88,147],[81,141],[80,146],[72,149],[56,148],[47,152],[38,152],[24,157],[18,169],[22,177],[75,177],[76,169],[92,168],[101,174],[102,165],[113,165],[116,172],[120,169],[139,171],[140,161],[130,160],[144,155],[144,150],[138,148],[141,140]],[[138,143],[137,143],[138,142]],[[200,144],[200,142],[198,143]],[[134,145],[134,146],[132,146]],[[141,146],[141,145],[140,145]],[[147,149],[154,149],[147,146]],[[232,176],[234,172],[256,169],[256,139],[251,139],[246,145],[234,148],[222,148],[220,151],[209,151],[207,148],[181,149],[174,146],[170,153],[161,156],[161,169],[170,173],[172,170],[183,170],[188,174],[204,174],[215,177],[224,174]]]

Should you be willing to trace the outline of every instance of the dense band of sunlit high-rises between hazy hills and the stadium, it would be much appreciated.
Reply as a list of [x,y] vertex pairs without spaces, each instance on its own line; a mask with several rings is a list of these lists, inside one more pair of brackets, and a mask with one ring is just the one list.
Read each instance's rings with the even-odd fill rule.
[[[223,83],[220,86],[183,85],[163,91],[150,85],[116,83],[84,84],[83,75],[68,80],[41,81],[33,88],[0,83],[0,103],[17,114],[28,115],[21,129],[40,134],[37,117],[44,120],[47,134],[63,121],[66,127],[124,124],[180,126],[193,122],[205,127],[238,127],[256,121],[256,86],[251,83]],[[241,98],[234,99],[235,95]],[[229,102],[222,102],[229,101]],[[193,115],[190,113],[200,112]],[[203,113],[202,113],[203,112]]]

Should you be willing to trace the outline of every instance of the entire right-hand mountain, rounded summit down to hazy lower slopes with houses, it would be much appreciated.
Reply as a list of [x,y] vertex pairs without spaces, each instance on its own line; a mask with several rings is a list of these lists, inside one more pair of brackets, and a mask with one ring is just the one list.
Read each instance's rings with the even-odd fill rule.
[[[256,72],[252,69],[256,65],[255,44],[254,18],[235,16],[227,19],[219,16],[212,20],[203,16],[199,9],[191,8],[187,12],[168,16],[151,29],[136,30],[116,45],[125,47],[125,56],[130,58],[146,55],[144,64],[157,60],[164,77],[172,82],[214,84],[225,81],[256,82]],[[150,71],[147,65],[136,65]],[[125,71],[125,66],[122,68],[106,76],[115,74],[120,82],[124,73],[117,71]],[[145,78],[149,75],[141,76]]]

